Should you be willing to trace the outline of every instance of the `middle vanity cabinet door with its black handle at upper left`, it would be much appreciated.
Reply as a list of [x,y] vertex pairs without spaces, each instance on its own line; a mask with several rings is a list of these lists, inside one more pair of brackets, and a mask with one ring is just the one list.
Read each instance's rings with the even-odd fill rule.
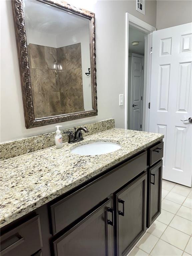
[[147,173],[116,194],[117,250],[127,255],[146,230]]

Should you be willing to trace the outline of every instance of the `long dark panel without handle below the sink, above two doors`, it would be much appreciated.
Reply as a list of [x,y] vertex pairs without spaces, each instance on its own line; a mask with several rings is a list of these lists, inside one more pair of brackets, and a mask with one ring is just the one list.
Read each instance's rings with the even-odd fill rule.
[[51,205],[52,233],[61,231],[147,168],[147,152]]

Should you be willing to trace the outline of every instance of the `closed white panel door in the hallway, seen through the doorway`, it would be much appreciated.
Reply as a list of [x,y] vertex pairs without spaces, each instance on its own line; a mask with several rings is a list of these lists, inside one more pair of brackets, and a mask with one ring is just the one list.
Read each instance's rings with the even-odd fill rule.
[[131,129],[142,131],[143,56],[132,53],[131,66]]

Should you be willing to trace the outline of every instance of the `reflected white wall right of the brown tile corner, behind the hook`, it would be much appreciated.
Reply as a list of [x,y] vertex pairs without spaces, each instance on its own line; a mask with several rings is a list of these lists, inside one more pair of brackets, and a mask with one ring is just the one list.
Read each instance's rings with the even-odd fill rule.
[[81,43],[81,61],[82,61],[82,78],[83,78],[83,99],[84,109],[92,110],[92,91],[91,91],[91,75],[86,76],[90,63],[90,31],[89,21],[87,25],[68,32],[63,32],[57,36],[57,48],[71,44]]

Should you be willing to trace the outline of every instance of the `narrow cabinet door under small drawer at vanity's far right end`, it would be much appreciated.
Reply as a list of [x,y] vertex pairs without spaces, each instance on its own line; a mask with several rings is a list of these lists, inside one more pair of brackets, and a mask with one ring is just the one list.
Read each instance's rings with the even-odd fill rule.
[[147,227],[150,227],[161,213],[162,168],[163,161],[161,160],[149,169]]

